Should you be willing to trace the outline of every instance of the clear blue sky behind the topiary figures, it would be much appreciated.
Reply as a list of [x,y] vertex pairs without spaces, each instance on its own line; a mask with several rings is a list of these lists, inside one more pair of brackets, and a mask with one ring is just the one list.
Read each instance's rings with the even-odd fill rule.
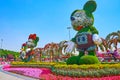
[[[88,0],[0,0],[0,39],[3,48],[19,51],[29,34],[36,33],[37,47],[69,40],[70,15]],[[120,0],[96,0],[94,26],[105,38],[120,30]],[[76,31],[71,29],[71,38]]]

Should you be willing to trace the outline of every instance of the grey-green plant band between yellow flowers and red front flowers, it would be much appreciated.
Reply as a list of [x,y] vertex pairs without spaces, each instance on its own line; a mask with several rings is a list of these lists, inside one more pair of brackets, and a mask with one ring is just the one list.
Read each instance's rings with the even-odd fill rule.
[[105,77],[120,75],[120,69],[98,69],[98,70],[61,70],[54,69],[53,73],[56,75],[70,76],[70,77]]

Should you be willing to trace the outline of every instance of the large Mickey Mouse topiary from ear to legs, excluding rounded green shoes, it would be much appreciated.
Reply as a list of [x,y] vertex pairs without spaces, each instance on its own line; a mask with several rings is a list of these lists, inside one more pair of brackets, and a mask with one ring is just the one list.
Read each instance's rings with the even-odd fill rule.
[[101,38],[98,36],[98,30],[93,26],[94,16],[92,13],[96,10],[96,7],[96,2],[89,0],[82,10],[75,10],[71,14],[70,19],[73,29],[78,32],[71,41],[65,43],[67,45],[66,52],[71,52],[76,45],[79,58],[85,55],[85,51],[88,52],[88,55],[96,57],[96,45],[102,43]]

